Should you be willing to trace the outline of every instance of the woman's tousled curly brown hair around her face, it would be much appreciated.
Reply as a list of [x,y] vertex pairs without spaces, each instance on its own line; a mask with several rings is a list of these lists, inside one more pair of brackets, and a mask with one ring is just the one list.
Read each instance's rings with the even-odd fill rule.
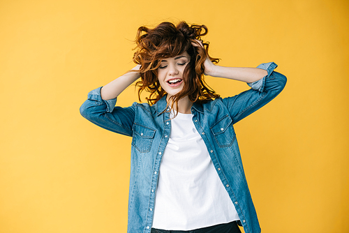
[[[153,105],[166,92],[161,88],[158,82],[158,67],[162,59],[168,57],[176,57],[183,52],[188,52],[191,57],[190,62],[184,69],[183,79],[184,87],[179,93],[172,98],[172,106],[178,103],[178,100],[184,96],[188,96],[191,102],[206,102],[212,98],[218,98],[219,95],[211,89],[204,80],[204,61],[209,57],[209,43],[199,45],[198,40],[201,36],[207,34],[205,25],[191,24],[179,22],[177,26],[171,22],[162,22],[154,29],[148,27],[140,27],[135,38],[135,54],[133,61],[140,67],[141,81],[136,83],[138,89],[138,98],[142,91],[146,90],[150,93],[146,98],[149,105]],[[194,47],[192,43],[198,45]],[[218,63],[219,59],[209,57],[212,62]],[[141,101],[141,100],[140,100]]]

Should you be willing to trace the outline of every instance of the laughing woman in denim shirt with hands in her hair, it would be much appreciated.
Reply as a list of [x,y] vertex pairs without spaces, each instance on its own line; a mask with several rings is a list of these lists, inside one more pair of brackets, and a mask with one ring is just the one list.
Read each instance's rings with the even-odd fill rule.
[[[217,66],[202,43],[207,27],[163,22],[140,27],[138,65],[91,91],[82,116],[133,137],[128,232],[260,232],[233,124],[276,97],[286,83],[275,63],[258,68]],[[204,74],[248,83],[220,98]],[[133,82],[148,103],[114,107]]]

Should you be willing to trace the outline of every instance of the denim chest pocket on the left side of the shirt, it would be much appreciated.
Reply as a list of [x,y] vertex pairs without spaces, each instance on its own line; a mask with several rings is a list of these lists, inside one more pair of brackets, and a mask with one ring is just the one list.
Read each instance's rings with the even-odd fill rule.
[[156,130],[147,126],[133,124],[132,145],[140,152],[149,152]]

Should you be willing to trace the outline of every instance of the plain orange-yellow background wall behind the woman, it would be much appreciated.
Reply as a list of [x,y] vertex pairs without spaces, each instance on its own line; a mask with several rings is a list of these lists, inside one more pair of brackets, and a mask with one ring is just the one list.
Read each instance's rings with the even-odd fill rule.
[[[262,232],[349,232],[348,1],[0,1],[0,232],[126,232],[131,138],[79,107],[142,25],[206,24],[222,66],[288,77],[235,125]],[[221,96],[244,83],[207,77]],[[137,99],[134,87],[119,105]]]

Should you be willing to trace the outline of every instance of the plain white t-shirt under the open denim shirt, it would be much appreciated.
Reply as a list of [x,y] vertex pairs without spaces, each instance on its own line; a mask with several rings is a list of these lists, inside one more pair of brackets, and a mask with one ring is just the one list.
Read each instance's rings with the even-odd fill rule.
[[194,230],[239,220],[192,117],[178,113],[171,120],[156,189],[156,229]]

